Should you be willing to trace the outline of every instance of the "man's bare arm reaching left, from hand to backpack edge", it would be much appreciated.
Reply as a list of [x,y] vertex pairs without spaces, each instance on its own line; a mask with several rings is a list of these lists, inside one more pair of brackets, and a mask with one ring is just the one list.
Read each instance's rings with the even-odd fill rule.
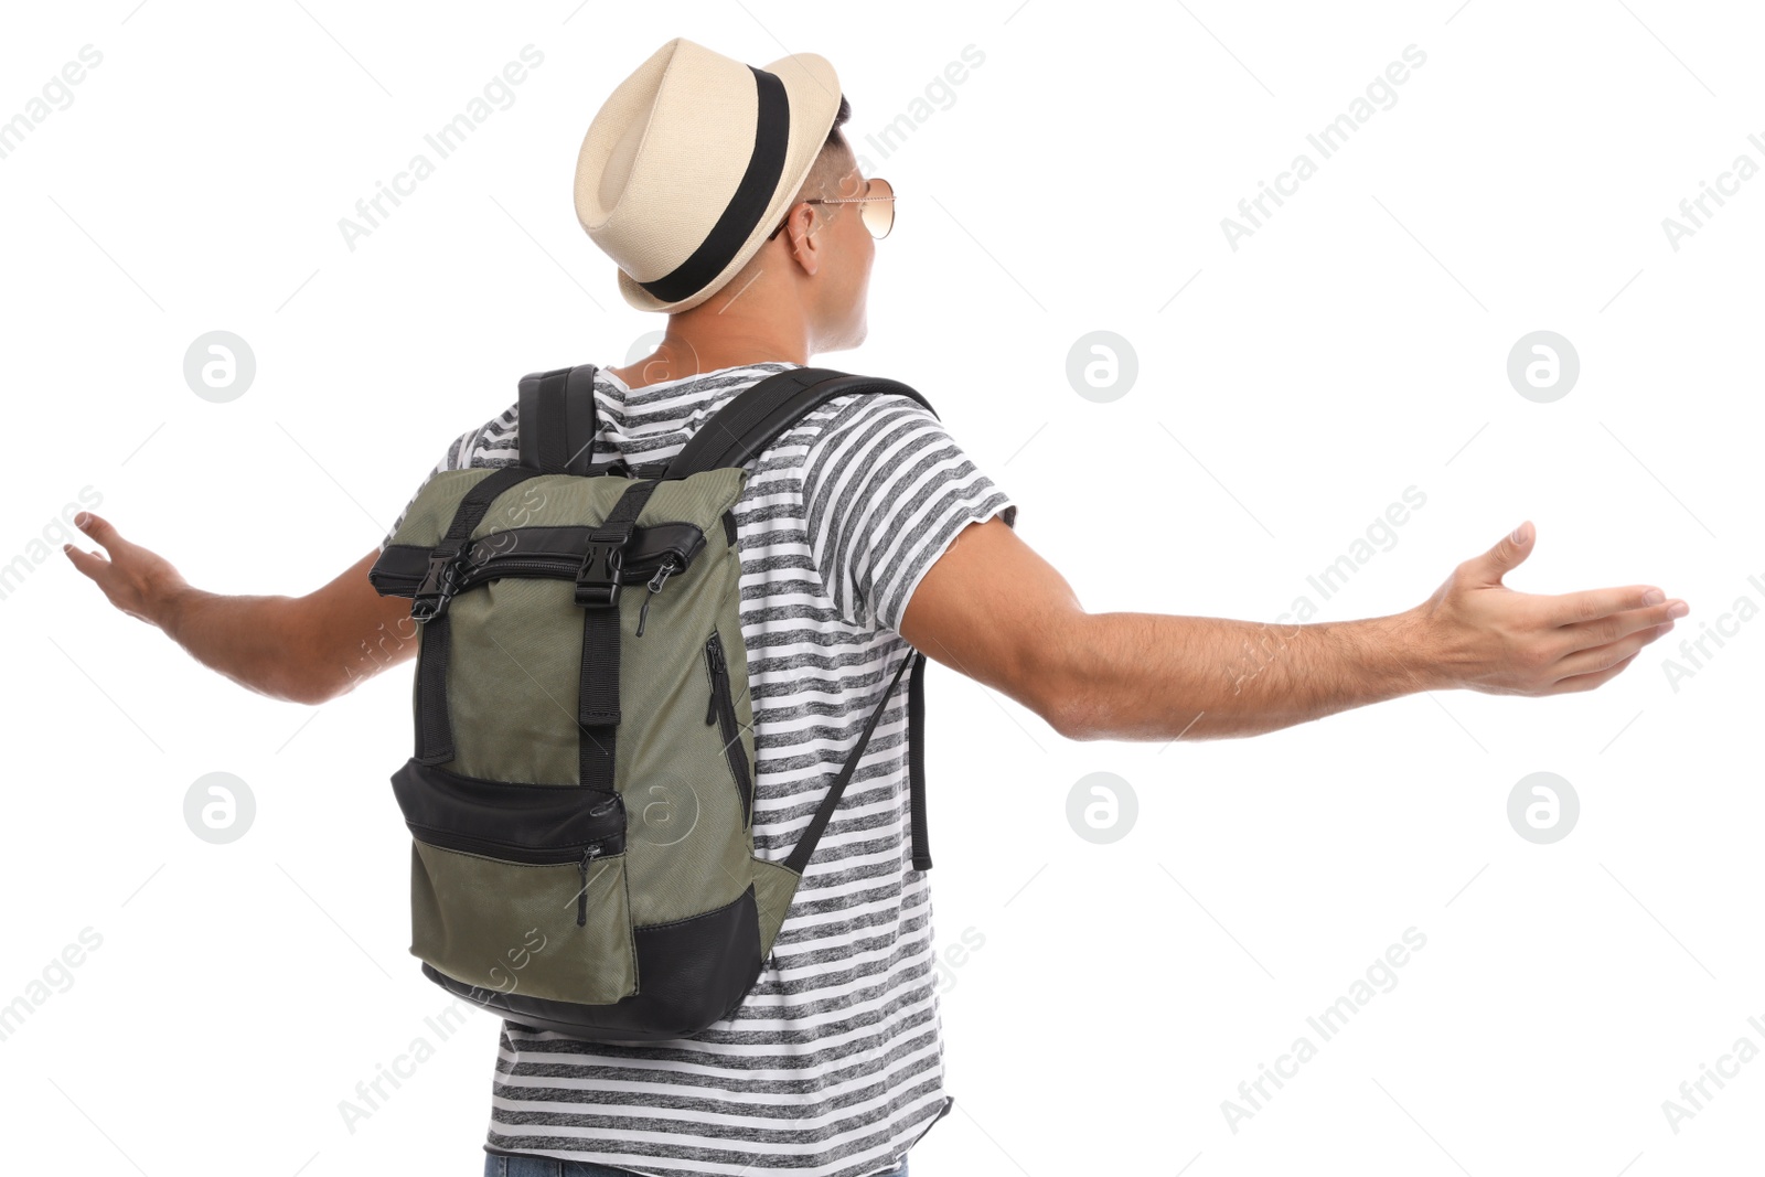
[[411,602],[381,596],[367,579],[378,549],[305,596],[222,596],[192,588],[99,515],[78,526],[106,556],[69,545],[67,558],[116,609],[259,695],[327,702],[417,653]]

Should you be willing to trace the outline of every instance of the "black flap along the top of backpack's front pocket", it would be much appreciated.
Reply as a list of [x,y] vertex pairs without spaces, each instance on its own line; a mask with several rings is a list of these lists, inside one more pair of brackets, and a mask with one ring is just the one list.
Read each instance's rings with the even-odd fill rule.
[[618,794],[579,785],[512,785],[461,776],[443,768],[406,762],[392,775],[392,792],[417,838],[429,831],[464,835],[498,843],[485,849],[496,858],[522,861],[549,851],[604,845],[605,854],[625,849],[625,805]]

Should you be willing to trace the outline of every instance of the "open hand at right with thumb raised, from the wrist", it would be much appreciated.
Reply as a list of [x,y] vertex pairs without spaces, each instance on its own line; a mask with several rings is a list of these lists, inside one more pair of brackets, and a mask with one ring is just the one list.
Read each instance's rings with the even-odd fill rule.
[[1689,607],[1649,584],[1560,596],[1516,593],[1502,577],[1532,554],[1527,521],[1461,563],[1408,618],[1437,686],[1490,695],[1560,695],[1620,674]]

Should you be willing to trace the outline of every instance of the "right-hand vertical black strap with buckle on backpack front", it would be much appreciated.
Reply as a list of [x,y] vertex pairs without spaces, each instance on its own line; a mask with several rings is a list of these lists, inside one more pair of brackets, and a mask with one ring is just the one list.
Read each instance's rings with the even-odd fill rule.
[[644,503],[660,485],[634,482],[588,536],[588,556],[577,575],[582,607],[582,672],[577,679],[577,782],[614,792],[612,769],[620,727],[620,552]]

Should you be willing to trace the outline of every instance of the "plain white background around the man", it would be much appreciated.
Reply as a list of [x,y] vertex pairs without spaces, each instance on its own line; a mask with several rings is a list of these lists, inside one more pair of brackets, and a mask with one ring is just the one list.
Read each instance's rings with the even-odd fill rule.
[[[1765,23],[1456,4],[14,11],[0,118],[81,46],[102,64],[0,161],[0,559],[30,563],[0,598],[0,1002],[81,928],[102,946],[0,1041],[7,1172],[478,1172],[489,1016],[353,1133],[339,1115],[447,1006],[404,951],[387,783],[413,663],[318,709],[254,695],[109,609],[53,522],[92,487],[201,588],[307,593],[522,372],[623,364],[662,323],[620,300],[570,178],[600,101],[674,35],[837,65],[900,199],[870,341],[821,362],[923,390],[1091,611],[1389,614],[1523,519],[1516,589],[1691,602],[1592,693],[1437,692],[1257,739],[1064,741],[939,665],[937,941],[985,942],[943,995],[957,1105],[914,1175],[1756,1166],[1765,1062],[1677,1133],[1663,1101],[1739,1038],[1765,1048],[1765,625],[1730,618],[1677,690],[1664,663],[1765,603],[1765,176],[1677,251],[1661,222],[1737,155],[1765,164]],[[348,249],[339,219],[526,44],[515,102]],[[913,106],[971,44],[985,62]],[[1306,134],[1412,44],[1398,101],[1320,159]],[[911,136],[867,150],[898,115]],[[1221,219],[1299,152],[1317,175],[1234,251]],[[210,330],[258,362],[226,404],[182,374]],[[1091,330],[1138,356],[1115,401],[1068,383]],[[1534,330],[1581,362],[1548,404],[1506,376]],[[1426,505],[1320,600],[1306,577],[1412,485]],[[1181,681],[1147,690],[1186,722]],[[256,798],[229,845],[184,822],[210,771]],[[1108,845],[1066,819],[1096,771],[1138,803]],[[1534,771],[1580,796],[1553,845],[1507,821]],[[1398,985],[1322,1043],[1306,1018],[1412,926]],[[1232,1131],[1221,1101],[1301,1034],[1317,1057]]]

